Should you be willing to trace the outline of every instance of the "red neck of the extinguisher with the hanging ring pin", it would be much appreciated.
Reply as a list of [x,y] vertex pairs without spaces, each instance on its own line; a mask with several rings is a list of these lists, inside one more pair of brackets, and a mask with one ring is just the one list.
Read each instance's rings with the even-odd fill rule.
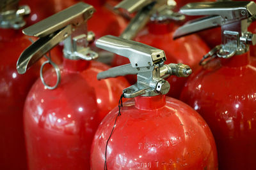
[[72,72],[81,72],[90,66],[88,60],[70,60],[63,57],[63,68]]

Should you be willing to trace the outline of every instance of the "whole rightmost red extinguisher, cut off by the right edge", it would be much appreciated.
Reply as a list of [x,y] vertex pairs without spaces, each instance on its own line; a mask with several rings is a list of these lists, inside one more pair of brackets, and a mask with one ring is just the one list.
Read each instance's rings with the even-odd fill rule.
[[250,45],[255,34],[247,31],[256,15],[252,1],[191,3],[186,15],[211,15],[177,29],[175,38],[221,26],[221,45],[207,53],[200,71],[186,83],[180,99],[193,107],[211,127],[220,169],[255,169],[256,68]]

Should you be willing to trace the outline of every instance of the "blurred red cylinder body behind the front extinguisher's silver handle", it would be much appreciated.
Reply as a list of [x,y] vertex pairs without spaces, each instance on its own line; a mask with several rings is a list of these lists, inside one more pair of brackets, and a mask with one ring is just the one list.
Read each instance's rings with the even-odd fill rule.
[[[175,29],[177,29],[177,25],[173,23],[151,23],[138,34],[135,41],[164,50],[166,54],[166,62],[164,62],[164,64],[188,64],[193,71],[195,71],[199,66],[199,61],[205,53],[209,52],[209,48],[205,45],[204,41],[196,35],[173,40],[172,37]],[[112,66],[120,66],[127,63],[129,63],[129,59],[116,55]],[[171,85],[168,96],[178,98],[187,79],[188,78],[177,78],[176,76],[168,78]],[[128,76],[127,80],[129,80],[130,83],[135,83],[136,76]]]

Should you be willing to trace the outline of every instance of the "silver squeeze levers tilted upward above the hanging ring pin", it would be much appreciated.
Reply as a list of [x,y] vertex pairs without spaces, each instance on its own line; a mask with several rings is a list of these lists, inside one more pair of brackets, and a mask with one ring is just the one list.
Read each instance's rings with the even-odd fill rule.
[[[92,17],[94,11],[95,9],[89,4],[77,3],[22,30],[24,34],[36,36],[39,37],[39,39],[26,48],[20,55],[17,61],[18,73],[26,73],[29,67],[35,64],[37,60],[54,48],[54,46],[58,45],[61,41],[70,38],[70,35],[74,34],[77,29],[81,31],[84,27],[83,24],[86,24],[85,22],[88,18]],[[84,33],[84,30],[81,32]],[[92,34],[88,34],[86,38],[81,38],[81,40],[90,41],[93,39],[92,37]],[[80,39],[78,40],[80,41]],[[70,45],[70,48],[73,48],[72,45]],[[77,49],[81,50],[80,46],[77,45]],[[74,51],[76,52],[76,50]],[[77,55],[80,54],[81,53],[77,51]],[[91,57],[95,58],[95,56],[95,53],[92,53]],[[90,56],[86,59],[88,58],[90,58]]]

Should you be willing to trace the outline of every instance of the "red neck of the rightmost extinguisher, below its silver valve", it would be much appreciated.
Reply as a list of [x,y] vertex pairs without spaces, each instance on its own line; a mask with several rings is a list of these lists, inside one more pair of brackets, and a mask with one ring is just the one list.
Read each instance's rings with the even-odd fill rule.
[[234,55],[229,59],[221,59],[221,65],[227,67],[241,67],[250,64],[250,51],[241,55]]

